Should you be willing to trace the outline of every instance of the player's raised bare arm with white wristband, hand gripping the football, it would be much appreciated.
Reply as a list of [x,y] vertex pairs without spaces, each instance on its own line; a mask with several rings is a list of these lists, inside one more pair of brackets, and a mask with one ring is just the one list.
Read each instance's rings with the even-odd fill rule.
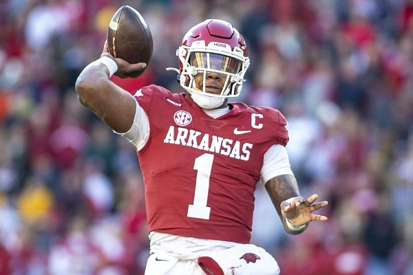
[[109,54],[107,41],[102,56],[110,60],[106,59],[102,62],[102,59],[98,59],[87,65],[76,80],[76,93],[79,101],[111,129],[118,133],[125,133],[134,122],[136,100],[128,91],[109,80],[109,77],[111,74],[125,77],[126,73],[144,69],[146,64],[129,64],[123,59],[114,58]]

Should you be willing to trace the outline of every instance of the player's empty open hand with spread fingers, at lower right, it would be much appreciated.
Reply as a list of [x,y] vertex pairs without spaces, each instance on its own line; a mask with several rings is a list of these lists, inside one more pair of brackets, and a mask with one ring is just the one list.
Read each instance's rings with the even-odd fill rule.
[[282,215],[295,226],[304,225],[310,221],[326,221],[328,219],[326,216],[313,214],[313,212],[327,206],[328,201],[314,203],[317,199],[318,195],[313,194],[307,199],[295,197],[290,203],[282,201],[280,205]]

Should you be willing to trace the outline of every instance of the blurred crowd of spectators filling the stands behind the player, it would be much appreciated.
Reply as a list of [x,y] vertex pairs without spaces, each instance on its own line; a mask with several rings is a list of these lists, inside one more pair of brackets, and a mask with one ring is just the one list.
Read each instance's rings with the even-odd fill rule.
[[112,77],[131,94],[182,91],[165,68],[192,25],[244,34],[251,67],[235,100],[286,115],[301,195],[330,203],[328,221],[289,236],[258,184],[252,241],[282,274],[413,274],[412,0],[1,0],[0,275],[143,274],[136,152],[74,91],[120,5],[153,35],[145,74]]

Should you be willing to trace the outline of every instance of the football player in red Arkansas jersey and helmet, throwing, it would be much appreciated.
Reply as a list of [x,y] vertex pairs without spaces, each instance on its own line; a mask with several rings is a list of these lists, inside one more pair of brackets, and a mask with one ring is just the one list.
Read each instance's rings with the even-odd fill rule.
[[109,77],[146,64],[114,58],[107,43],[76,82],[81,103],[138,152],[150,232],[145,274],[279,274],[273,256],[249,244],[257,182],[289,234],[326,221],[313,212],[328,202],[299,195],[282,113],[228,102],[240,95],[250,64],[230,23],[195,25],[177,56],[184,92],[149,85],[131,96]]

